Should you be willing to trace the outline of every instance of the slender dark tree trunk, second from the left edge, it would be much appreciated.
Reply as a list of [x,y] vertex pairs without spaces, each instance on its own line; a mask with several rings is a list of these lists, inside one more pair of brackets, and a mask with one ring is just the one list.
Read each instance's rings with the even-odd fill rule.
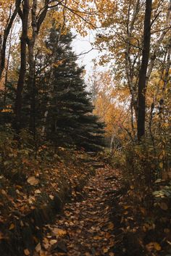
[[21,110],[22,110],[22,90],[25,83],[25,73],[27,64],[27,40],[28,40],[28,16],[29,0],[24,0],[23,11],[20,9],[19,14],[22,20],[22,36],[20,39],[20,74],[17,82],[17,94],[15,99],[15,120],[14,128],[17,133],[21,128]]

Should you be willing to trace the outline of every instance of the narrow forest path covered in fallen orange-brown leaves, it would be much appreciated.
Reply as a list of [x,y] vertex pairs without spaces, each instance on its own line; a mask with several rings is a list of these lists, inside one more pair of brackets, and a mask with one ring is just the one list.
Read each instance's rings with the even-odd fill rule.
[[84,187],[83,201],[64,206],[56,223],[46,226],[43,243],[34,256],[113,256],[112,191],[118,187],[117,170],[99,168]]

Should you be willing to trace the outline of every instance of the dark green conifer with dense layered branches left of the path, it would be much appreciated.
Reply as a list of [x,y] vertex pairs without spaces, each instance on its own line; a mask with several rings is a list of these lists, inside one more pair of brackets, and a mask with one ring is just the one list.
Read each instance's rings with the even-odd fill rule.
[[[75,145],[86,150],[101,150],[104,146],[104,124],[92,114],[91,96],[86,91],[83,67],[78,67],[72,51],[72,33],[61,35],[52,28],[46,47],[54,65],[51,96],[46,118],[47,138],[58,146]],[[49,59],[49,57],[47,58]],[[51,75],[46,75],[50,79]]]

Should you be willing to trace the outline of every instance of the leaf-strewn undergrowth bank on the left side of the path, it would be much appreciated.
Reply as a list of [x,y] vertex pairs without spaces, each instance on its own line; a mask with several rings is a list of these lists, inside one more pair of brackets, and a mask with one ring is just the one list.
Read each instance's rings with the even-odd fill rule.
[[64,202],[79,199],[94,173],[86,152],[48,145],[35,151],[22,139],[18,146],[7,134],[1,137],[0,254],[5,256],[33,249],[43,224],[54,220]]

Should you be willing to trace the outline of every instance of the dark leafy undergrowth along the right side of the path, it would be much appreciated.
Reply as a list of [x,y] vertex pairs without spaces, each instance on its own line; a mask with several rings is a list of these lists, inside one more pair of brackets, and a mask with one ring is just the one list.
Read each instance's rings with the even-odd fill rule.
[[171,184],[169,172],[159,170],[161,159],[144,143],[127,145],[104,160],[122,173],[121,189],[114,194],[119,255],[169,256]]

